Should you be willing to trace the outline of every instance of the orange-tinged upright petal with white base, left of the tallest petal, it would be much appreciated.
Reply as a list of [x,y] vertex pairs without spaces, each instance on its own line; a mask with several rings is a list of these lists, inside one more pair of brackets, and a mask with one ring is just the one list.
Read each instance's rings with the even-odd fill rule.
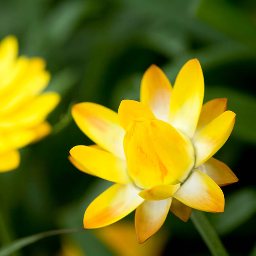
[[141,80],[141,102],[153,111],[156,118],[168,121],[172,85],[164,72],[151,65]]

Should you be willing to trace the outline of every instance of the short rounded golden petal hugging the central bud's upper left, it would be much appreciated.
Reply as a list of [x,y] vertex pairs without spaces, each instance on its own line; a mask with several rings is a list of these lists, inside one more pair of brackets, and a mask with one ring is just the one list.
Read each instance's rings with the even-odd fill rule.
[[122,100],[118,108],[120,125],[126,131],[128,125],[137,118],[155,118],[147,105],[136,100]]

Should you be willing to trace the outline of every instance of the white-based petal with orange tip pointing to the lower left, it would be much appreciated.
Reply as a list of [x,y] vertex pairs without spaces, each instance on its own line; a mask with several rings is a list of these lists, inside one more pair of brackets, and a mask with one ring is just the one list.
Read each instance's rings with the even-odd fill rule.
[[84,213],[84,228],[110,225],[135,210],[144,200],[133,185],[114,184],[99,195]]

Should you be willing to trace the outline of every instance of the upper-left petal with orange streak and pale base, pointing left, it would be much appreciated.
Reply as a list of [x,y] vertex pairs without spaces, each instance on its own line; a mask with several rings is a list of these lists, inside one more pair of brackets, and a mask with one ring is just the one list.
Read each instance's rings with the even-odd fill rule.
[[92,141],[115,156],[125,159],[125,131],[119,125],[117,113],[95,103],[82,102],[73,106],[72,116],[80,130]]

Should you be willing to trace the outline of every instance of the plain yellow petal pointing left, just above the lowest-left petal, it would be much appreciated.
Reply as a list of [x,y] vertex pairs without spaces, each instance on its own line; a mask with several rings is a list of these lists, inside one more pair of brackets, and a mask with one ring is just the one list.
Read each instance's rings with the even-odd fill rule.
[[131,183],[126,162],[109,152],[89,146],[75,146],[69,153],[83,169],[102,179],[121,184]]

